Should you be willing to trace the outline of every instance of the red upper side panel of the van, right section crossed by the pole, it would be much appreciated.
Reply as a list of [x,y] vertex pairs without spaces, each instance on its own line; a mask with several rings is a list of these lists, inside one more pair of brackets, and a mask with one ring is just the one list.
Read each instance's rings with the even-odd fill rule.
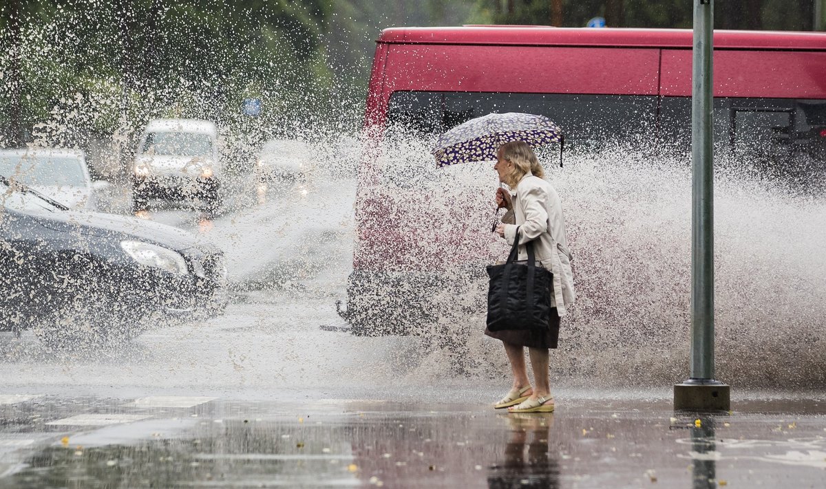
[[[662,51],[661,92],[691,96],[691,50]],[[826,52],[714,51],[714,97],[826,98]]]

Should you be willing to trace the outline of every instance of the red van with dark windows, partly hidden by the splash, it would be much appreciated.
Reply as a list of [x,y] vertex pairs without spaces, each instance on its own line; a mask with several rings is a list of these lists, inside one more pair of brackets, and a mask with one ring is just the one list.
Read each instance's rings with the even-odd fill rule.
[[[392,127],[438,134],[490,112],[529,112],[563,128],[566,151],[617,140],[688,151],[691,43],[689,30],[387,29],[377,40],[365,129],[378,138]],[[747,148],[749,161],[773,169],[794,170],[798,154],[808,170],[813,159],[824,166],[826,34],[715,32],[714,97],[715,155]],[[433,324],[444,314],[434,298],[450,296],[468,270],[483,275],[501,251],[491,248],[490,222],[475,217],[483,209],[456,199],[436,215],[426,206],[411,211],[420,192],[388,184],[384,172],[373,161],[359,169],[354,270],[340,312],[361,335]],[[451,225],[417,234],[411,215]]]

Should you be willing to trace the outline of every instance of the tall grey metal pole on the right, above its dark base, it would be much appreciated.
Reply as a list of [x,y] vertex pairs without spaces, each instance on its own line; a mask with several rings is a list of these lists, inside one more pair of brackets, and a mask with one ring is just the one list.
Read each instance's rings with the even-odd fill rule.
[[691,78],[691,378],[714,378],[714,0],[695,0]]

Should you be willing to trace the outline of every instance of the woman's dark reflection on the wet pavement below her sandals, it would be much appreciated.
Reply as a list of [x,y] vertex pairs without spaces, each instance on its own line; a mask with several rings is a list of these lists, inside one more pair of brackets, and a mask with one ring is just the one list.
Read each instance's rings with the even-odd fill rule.
[[510,413],[501,417],[510,425],[510,442],[504,458],[489,469],[488,487],[559,487],[557,450],[548,450],[553,413]]

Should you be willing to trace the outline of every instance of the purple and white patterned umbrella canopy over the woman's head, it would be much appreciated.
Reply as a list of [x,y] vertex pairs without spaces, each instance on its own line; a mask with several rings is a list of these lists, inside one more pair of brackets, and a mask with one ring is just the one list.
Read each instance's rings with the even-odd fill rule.
[[563,139],[562,130],[548,117],[521,112],[488,114],[453,127],[439,136],[433,155],[438,166],[496,160],[496,150],[510,141],[531,147]]

